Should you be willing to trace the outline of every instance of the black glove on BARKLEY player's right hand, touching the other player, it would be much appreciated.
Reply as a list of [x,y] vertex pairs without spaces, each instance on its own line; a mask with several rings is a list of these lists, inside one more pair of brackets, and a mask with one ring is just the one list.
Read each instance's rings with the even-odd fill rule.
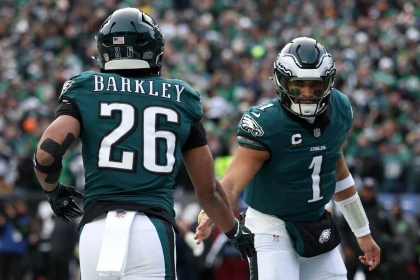
[[254,234],[242,224],[244,218],[245,213],[242,212],[236,217],[236,224],[233,229],[225,233],[233,247],[241,254],[243,261],[246,260],[247,256],[251,257],[255,254]]

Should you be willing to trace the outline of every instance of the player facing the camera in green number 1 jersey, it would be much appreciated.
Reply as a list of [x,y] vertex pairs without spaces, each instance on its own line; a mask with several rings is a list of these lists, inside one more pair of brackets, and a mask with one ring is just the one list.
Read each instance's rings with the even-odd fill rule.
[[[340,236],[325,205],[333,198],[352,228],[362,263],[374,269],[380,249],[344,160],[352,125],[349,99],[332,88],[331,54],[314,39],[288,43],[274,62],[279,99],[243,114],[240,147],[221,180],[231,202],[244,190],[245,224],[255,233],[251,279],[347,279]],[[213,224],[199,216],[198,243]]]

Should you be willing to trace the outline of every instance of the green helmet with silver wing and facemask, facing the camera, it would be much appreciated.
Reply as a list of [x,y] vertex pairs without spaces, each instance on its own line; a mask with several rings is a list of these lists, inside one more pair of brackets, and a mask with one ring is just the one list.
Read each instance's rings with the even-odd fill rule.
[[[281,104],[301,117],[315,117],[328,106],[336,68],[331,54],[312,38],[288,43],[274,62],[274,80]],[[309,86],[313,97],[302,96],[300,86]]]

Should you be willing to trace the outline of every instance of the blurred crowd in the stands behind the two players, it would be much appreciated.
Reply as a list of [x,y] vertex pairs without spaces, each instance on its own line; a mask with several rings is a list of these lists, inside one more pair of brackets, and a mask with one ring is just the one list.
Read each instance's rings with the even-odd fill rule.
[[[75,224],[52,217],[32,157],[54,119],[64,82],[99,70],[91,57],[97,55],[94,36],[100,24],[127,6],[158,21],[166,40],[162,75],[185,80],[201,94],[219,176],[234,153],[241,113],[277,97],[269,77],[282,46],[298,36],[324,44],[337,68],[334,87],[348,95],[354,110],[346,161],[360,191],[371,196],[365,208],[376,209],[367,212],[377,220],[371,228],[385,248],[382,274],[366,279],[418,279],[419,206],[407,216],[404,201],[385,207],[378,199],[381,194],[420,194],[417,0],[0,0],[0,280],[9,280],[7,274],[13,279],[77,279]],[[60,181],[83,190],[83,174],[76,143],[64,157]],[[177,213],[193,230],[199,207],[186,207],[196,203],[192,193],[181,170]],[[244,207],[239,201],[238,209]],[[342,231],[345,237],[345,227]],[[63,238],[68,243],[60,242]],[[217,233],[200,257],[179,240],[178,272],[187,275],[179,279],[246,279],[246,265],[236,276],[224,268],[240,262],[229,246],[206,258],[215,239]],[[355,271],[359,252],[351,238],[343,239],[347,268]],[[63,273],[68,278],[57,276]]]

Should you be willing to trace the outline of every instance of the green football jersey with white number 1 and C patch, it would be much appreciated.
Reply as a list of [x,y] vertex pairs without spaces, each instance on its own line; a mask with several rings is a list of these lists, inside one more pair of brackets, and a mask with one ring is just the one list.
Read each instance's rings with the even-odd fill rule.
[[314,221],[335,192],[340,146],[353,113],[349,99],[333,89],[329,108],[313,124],[298,118],[278,99],[244,113],[239,144],[270,153],[244,197],[252,208],[285,221]]

